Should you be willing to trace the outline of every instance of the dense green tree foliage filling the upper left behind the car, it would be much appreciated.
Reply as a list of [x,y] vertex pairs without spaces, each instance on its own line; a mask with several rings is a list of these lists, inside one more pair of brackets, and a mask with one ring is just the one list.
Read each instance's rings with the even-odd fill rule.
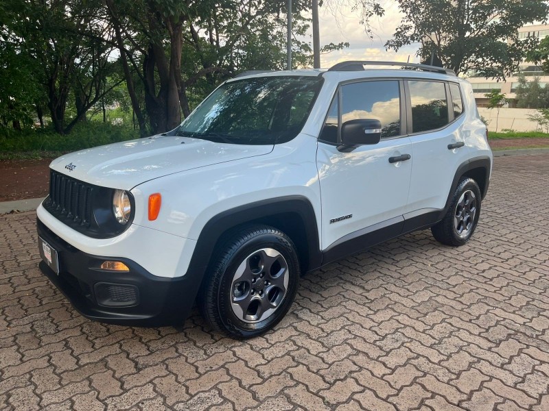
[[[349,4],[365,25],[382,13],[375,0]],[[113,119],[137,123],[141,135],[164,132],[236,73],[285,69],[286,5],[2,0],[0,134],[22,127],[20,136],[34,145],[34,134],[25,131],[30,125],[73,136],[80,123]],[[294,68],[312,63],[310,8],[310,1],[293,2]],[[323,52],[343,47],[349,44],[329,44]]]

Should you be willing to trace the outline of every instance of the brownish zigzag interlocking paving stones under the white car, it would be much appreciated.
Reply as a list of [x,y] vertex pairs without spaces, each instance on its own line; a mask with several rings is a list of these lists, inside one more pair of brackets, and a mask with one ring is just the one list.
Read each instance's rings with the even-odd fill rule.
[[495,159],[480,225],[303,277],[239,342],[84,319],[37,269],[35,214],[0,216],[1,410],[549,410],[549,155]]

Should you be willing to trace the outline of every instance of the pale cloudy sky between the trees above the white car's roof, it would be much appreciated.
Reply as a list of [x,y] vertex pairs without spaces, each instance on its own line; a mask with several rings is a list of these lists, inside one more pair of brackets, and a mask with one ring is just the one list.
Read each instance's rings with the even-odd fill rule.
[[[338,1],[332,1],[338,3]],[[375,16],[371,20],[373,39],[364,32],[364,26],[360,25],[360,16],[349,8],[338,7],[337,10],[323,5],[319,10],[320,21],[320,45],[330,42],[349,42],[350,47],[341,51],[334,51],[320,56],[320,66],[329,68],[338,62],[345,60],[382,60],[382,61],[408,61],[419,63],[416,56],[418,46],[403,47],[397,53],[386,51],[384,44],[393,37],[395,29],[401,21],[401,14],[396,1],[385,1],[385,15],[381,18]],[[309,29],[312,42],[312,29]]]

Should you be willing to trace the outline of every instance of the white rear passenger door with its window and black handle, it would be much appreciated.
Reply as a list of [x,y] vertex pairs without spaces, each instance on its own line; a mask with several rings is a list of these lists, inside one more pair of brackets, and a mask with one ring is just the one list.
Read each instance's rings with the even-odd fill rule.
[[457,82],[408,79],[406,95],[414,161],[405,217],[411,218],[445,207],[456,170],[469,152]]

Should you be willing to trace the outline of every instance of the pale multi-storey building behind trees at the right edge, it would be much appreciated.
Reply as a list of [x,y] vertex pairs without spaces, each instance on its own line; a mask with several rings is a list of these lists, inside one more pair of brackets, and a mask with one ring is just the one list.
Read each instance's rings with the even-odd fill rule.
[[[521,27],[519,29],[519,38],[526,38],[529,36],[535,36],[540,40],[549,36],[549,25],[528,25]],[[543,87],[546,84],[549,84],[549,73],[544,73],[532,63],[524,62],[520,64],[519,72],[526,75],[526,77],[533,77],[538,75],[540,85]],[[484,77],[476,77],[471,75],[467,80],[473,85],[474,96],[476,103],[479,107],[486,107],[488,105],[488,99],[484,97],[487,92],[496,89],[500,90],[508,99],[511,99],[509,102],[510,107],[516,107],[517,101],[515,99],[515,91],[518,86],[518,73],[514,73],[511,77],[508,77],[504,82],[497,82],[495,79],[486,79]]]

